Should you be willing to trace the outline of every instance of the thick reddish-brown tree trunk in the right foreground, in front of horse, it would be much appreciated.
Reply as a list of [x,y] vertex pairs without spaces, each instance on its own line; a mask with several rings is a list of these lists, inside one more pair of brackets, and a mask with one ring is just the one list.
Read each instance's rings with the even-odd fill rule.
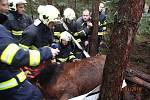
[[111,35],[110,52],[104,67],[99,100],[119,100],[124,71],[138,30],[144,0],[120,0],[118,14]]

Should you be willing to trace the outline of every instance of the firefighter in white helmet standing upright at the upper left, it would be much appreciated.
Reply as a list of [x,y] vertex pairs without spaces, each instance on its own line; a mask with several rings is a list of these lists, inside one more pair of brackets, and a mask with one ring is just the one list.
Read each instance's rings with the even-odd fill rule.
[[8,21],[5,26],[12,32],[13,37],[19,42],[22,32],[32,24],[32,19],[24,13],[25,0],[9,0]]

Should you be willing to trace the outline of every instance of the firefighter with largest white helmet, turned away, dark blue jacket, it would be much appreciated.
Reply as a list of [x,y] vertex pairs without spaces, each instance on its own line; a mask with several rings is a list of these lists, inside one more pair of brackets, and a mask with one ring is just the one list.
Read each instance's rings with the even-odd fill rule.
[[59,10],[52,5],[38,7],[39,19],[25,29],[20,45],[36,49],[53,43],[53,26],[59,22]]

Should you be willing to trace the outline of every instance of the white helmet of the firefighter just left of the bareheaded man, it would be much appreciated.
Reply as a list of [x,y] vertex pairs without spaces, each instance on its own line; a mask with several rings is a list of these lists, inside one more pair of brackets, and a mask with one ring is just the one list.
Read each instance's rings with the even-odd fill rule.
[[71,8],[66,8],[64,10],[64,14],[63,15],[64,15],[65,18],[68,18],[69,20],[73,20],[73,19],[76,18],[75,12]]

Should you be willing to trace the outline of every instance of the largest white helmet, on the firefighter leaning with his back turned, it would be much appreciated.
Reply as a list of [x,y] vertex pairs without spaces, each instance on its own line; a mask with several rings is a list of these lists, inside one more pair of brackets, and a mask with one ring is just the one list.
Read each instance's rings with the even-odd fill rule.
[[39,19],[48,26],[49,22],[57,22],[60,15],[59,10],[52,5],[40,5],[38,7]]

